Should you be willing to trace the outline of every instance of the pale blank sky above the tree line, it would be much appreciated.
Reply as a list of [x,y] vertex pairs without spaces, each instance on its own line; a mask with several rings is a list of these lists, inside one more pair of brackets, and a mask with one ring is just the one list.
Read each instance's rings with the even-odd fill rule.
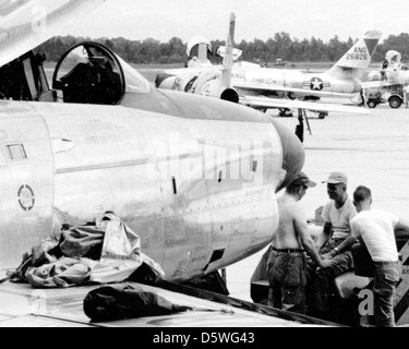
[[67,35],[154,38],[187,41],[202,35],[225,40],[229,14],[236,14],[236,41],[267,40],[286,32],[291,38],[324,43],[361,37],[370,29],[389,35],[409,33],[408,0],[107,0],[76,20]]

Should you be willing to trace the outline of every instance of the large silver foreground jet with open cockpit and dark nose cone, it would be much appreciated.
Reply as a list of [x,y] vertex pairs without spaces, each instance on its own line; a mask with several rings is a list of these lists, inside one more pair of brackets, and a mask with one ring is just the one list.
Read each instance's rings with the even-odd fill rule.
[[[256,110],[158,91],[96,43],[64,53],[50,88],[32,49],[95,2],[2,8],[10,25],[0,32],[0,269],[62,224],[106,210],[137,232],[168,280],[266,246],[276,193],[303,167],[299,140]],[[41,31],[33,31],[33,5],[48,10]]]

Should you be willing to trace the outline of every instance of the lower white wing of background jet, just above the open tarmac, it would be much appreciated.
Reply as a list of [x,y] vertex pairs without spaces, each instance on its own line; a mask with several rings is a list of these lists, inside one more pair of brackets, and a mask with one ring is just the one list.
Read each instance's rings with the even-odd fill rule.
[[268,97],[254,97],[245,96],[240,98],[240,104],[258,107],[258,108],[298,108],[308,109],[314,111],[338,111],[347,113],[362,113],[369,115],[370,111],[365,108],[345,106],[337,104],[323,104],[315,101],[303,101],[298,99],[285,99],[285,98],[268,98]]

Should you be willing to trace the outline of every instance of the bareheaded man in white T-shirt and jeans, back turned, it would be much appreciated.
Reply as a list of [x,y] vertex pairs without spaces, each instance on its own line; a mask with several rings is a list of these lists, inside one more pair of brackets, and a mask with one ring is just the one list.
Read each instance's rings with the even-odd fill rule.
[[371,190],[363,185],[353,192],[353,204],[358,215],[350,222],[351,236],[365,244],[372,258],[375,325],[393,327],[394,293],[400,277],[395,229],[408,230],[409,221],[372,209]]

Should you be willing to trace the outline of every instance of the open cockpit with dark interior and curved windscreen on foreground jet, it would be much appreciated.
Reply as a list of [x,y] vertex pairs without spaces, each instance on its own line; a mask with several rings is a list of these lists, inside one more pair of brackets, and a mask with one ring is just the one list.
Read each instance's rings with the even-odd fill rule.
[[104,45],[70,48],[56,65],[52,88],[44,55],[29,51],[0,67],[0,99],[117,105],[125,93],[148,93],[151,83]]

